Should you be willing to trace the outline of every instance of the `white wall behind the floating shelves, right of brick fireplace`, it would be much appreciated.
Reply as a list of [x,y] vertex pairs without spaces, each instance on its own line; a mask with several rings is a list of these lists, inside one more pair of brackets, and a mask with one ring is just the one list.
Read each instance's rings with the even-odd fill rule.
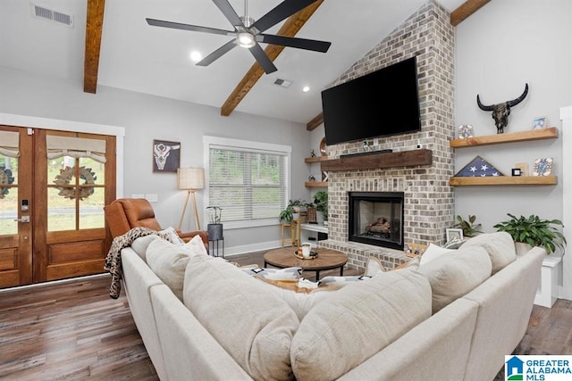
[[[572,2],[569,0],[495,0],[457,27],[456,124],[471,124],[475,135],[496,134],[490,112],[476,105],[515,99],[528,83],[526,100],[513,107],[505,132],[531,129],[537,116],[558,127],[559,108],[572,104]],[[568,147],[569,149],[569,147]],[[562,178],[562,139],[488,145],[456,150],[456,170],[481,155],[510,176],[517,162],[554,158]],[[537,214],[562,219],[562,186],[458,186],[456,214],[477,216],[484,231],[507,219]]]

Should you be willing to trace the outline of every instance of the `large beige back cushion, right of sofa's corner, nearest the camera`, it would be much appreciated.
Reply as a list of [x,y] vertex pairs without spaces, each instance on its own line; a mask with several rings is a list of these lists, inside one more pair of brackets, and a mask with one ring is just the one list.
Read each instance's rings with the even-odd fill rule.
[[431,316],[431,286],[409,269],[334,292],[309,311],[290,350],[299,380],[341,377]]

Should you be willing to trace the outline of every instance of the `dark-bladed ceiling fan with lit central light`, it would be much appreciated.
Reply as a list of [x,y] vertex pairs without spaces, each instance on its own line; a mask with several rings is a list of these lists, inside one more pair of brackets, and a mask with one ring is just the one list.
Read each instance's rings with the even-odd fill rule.
[[235,46],[246,47],[250,51],[257,62],[265,70],[266,74],[276,71],[276,66],[265,54],[265,51],[258,43],[273,44],[279,46],[296,47],[299,49],[312,50],[315,52],[325,53],[328,51],[332,43],[325,41],[317,41],[307,38],[285,37],[277,35],[269,35],[262,33],[266,29],[272,28],[280,21],[290,17],[292,14],[306,8],[309,4],[315,3],[317,0],[284,0],[281,4],[276,5],[270,12],[267,12],[257,21],[248,17],[248,0],[244,1],[245,15],[239,17],[234,11],[228,0],[213,0],[213,3],[223,12],[224,17],[231,22],[234,30],[215,29],[208,27],[199,27],[197,25],[181,24],[179,22],[162,21],[156,19],[146,19],[149,25],[155,27],[191,30],[196,32],[213,33],[223,36],[234,37],[231,41],[216,49],[213,53],[207,55],[204,59],[197,62],[199,66],[207,66],[216,61],[223,54],[229,52]]

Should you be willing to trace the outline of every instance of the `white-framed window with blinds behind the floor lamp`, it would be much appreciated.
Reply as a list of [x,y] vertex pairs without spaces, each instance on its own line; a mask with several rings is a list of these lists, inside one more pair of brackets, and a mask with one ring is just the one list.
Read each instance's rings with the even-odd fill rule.
[[275,224],[290,196],[286,145],[205,137],[206,206],[222,208],[225,228]]

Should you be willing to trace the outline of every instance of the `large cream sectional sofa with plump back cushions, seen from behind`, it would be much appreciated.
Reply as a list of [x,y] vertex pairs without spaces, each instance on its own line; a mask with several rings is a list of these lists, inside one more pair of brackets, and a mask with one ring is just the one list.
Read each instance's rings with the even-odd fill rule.
[[[123,287],[162,380],[492,380],[525,335],[546,255],[517,256],[505,235],[301,294],[146,236],[122,249]],[[178,269],[154,264],[159,277],[150,253]]]

